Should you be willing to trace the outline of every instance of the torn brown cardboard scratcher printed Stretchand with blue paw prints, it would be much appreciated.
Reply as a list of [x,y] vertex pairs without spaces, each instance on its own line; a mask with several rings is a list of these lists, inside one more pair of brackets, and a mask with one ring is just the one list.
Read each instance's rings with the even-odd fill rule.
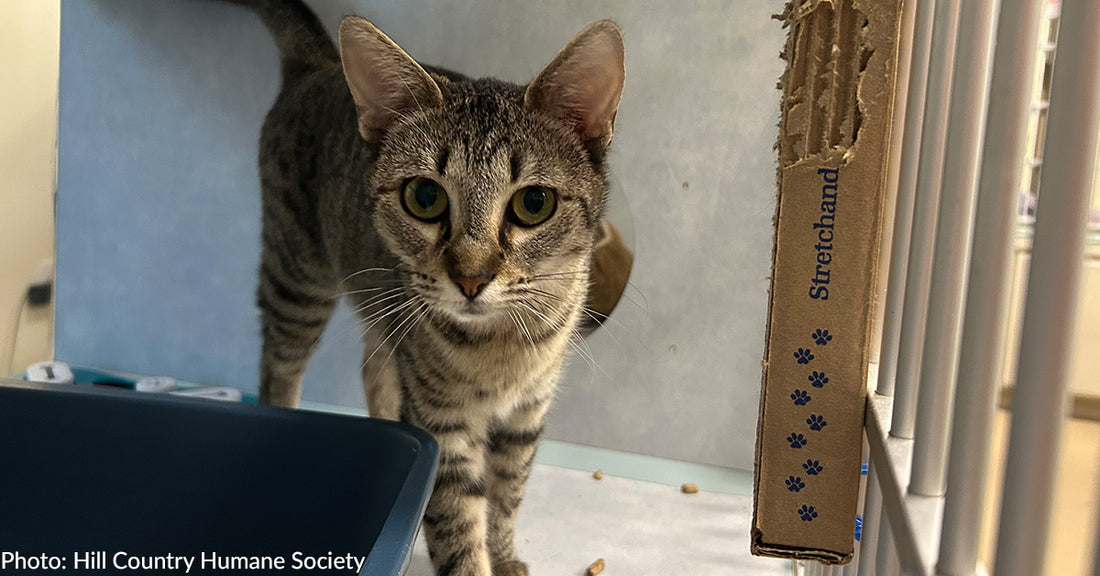
[[752,553],[851,560],[901,0],[791,1]]

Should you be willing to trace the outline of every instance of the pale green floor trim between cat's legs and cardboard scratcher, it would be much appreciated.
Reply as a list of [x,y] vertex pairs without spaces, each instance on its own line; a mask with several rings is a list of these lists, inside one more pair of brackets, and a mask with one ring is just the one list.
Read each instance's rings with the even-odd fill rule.
[[752,473],[748,470],[646,456],[557,440],[543,440],[539,444],[535,462],[586,472],[603,470],[605,475],[609,476],[622,476],[669,486],[692,483],[698,486],[700,490],[710,492],[736,496],[752,495]]

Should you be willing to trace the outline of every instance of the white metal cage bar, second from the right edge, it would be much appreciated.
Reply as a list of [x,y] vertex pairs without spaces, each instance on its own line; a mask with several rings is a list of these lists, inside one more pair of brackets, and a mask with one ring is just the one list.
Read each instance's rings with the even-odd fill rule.
[[1020,186],[1027,151],[1032,82],[1043,4],[1003,0],[997,32],[986,123],[985,154],[974,224],[967,306],[959,350],[947,496],[937,571],[969,575],[978,569],[981,511],[989,446],[1002,377],[1016,206],[1005,191]]

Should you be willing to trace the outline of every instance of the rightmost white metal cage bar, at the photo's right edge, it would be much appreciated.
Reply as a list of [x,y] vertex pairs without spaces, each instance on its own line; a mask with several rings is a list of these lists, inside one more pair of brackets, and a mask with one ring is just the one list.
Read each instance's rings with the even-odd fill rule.
[[[1021,332],[994,568],[1041,574],[1100,133],[1100,2],[1066,0]],[[1026,470],[1026,474],[1012,474]]]

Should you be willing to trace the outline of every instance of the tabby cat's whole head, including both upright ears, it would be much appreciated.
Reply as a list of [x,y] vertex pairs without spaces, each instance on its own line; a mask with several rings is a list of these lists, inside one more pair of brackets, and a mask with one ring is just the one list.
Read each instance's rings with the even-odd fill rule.
[[428,309],[468,326],[575,320],[607,195],[618,29],[579,34],[528,87],[428,75],[361,19],[341,26],[374,229]]

